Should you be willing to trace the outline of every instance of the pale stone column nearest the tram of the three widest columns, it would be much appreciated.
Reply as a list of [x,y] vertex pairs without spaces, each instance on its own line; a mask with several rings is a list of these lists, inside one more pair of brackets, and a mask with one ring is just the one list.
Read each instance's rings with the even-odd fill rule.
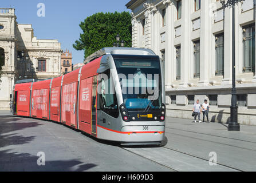
[[190,57],[192,46],[191,41],[191,3],[192,1],[182,1],[182,44],[181,44],[181,81],[179,87],[188,87],[188,66],[193,61]]

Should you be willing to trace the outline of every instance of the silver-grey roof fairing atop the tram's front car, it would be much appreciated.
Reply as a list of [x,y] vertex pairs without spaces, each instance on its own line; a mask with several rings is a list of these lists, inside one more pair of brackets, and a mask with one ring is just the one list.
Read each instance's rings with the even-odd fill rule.
[[120,55],[156,55],[152,50],[135,47],[104,47],[93,54],[86,57],[84,63],[89,63],[96,58],[105,54],[120,54]]

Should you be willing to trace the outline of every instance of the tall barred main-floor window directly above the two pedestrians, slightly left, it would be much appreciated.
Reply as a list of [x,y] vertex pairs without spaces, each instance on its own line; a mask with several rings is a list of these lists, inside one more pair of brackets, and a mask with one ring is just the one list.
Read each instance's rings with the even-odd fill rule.
[[194,78],[200,78],[200,40],[194,42]]

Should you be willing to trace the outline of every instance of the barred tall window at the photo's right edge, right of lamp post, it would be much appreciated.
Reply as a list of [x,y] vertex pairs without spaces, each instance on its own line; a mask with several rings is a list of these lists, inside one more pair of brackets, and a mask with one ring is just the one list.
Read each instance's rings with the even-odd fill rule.
[[243,27],[243,73],[255,72],[255,23]]

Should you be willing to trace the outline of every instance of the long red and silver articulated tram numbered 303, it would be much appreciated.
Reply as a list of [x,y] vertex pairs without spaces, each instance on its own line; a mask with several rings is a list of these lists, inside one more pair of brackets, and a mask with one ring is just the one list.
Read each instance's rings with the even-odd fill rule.
[[[132,73],[135,70],[135,75],[158,73],[157,78],[146,78],[157,85],[158,96],[149,100],[141,97],[150,96],[148,92],[124,94],[124,84],[119,83],[121,70]],[[166,118],[162,75],[160,59],[151,50],[104,48],[91,55],[86,65],[64,76],[16,84],[13,112],[17,116],[60,122],[94,137],[125,145],[159,144],[164,138]],[[107,81],[117,81],[115,92],[105,93],[105,88],[101,92],[103,86],[108,85]],[[129,79],[124,81],[130,82]],[[135,90],[138,86],[133,87]],[[139,87],[140,91],[145,86],[140,84]]]

